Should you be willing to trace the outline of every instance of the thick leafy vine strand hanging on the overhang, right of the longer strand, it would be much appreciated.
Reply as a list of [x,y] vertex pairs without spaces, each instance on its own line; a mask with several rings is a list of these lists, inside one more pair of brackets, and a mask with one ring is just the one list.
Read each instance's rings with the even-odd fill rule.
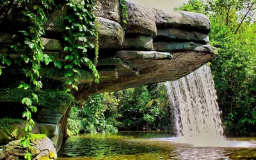
[[[95,83],[99,83],[99,73],[93,62],[86,56],[88,49],[95,49],[96,53],[99,50],[98,44],[95,47],[86,38],[86,36],[97,36],[95,32],[95,16],[93,15],[95,4],[94,1],[87,1],[86,5],[84,4],[85,1],[83,0],[70,0],[67,5],[74,10],[74,14],[65,17],[69,22],[69,25],[66,27],[68,35],[65,38],[68,45],[64,49],[69,52],[65,60],[67,62],[70,61],[70,63],[65,65],[65,68],[69,69],[69,72],[65,74],[65,77],[68,77],[65,84],[72,86],[71,88],[76,90],[78,90],[77,84],[79,83],[77,76],[81,75],[77,67],[81,67],[81,63],[88,65],[92,70],[93,76],[95,76]],[[66,92],[70,92],[71,88],[67,88]]]

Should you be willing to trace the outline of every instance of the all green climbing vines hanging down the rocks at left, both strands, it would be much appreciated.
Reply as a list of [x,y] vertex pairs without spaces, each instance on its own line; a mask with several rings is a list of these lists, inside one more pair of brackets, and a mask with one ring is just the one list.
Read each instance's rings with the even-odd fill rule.
[[[10,1],[1,1],[0,7],[6,6]],[[66,27],[68,33],[65,41],[68,42],[65,47],[67,54],[65,60],[54,60],[50,55],[43,52],[44,46],[41,40],[41,37],[45,35],[44,24],[47,22],[47,16],[45,10],[51,10],[51,7],[54,6],[53,0],[22,0],[24,6],[29,3],[33,3],[33,9],[23,10],[22,13],[30,20],[30,25],[28,29],[20,31],[24,36],[24,41],[19,44],[12,45],[12,48],[15,51],[22,52],[21,60],[16,61],[15,63],[20,63],[24,61],[27,65],[22,68],[26,77],[29,81],[21,82],[18,88],[23,88],[28,90],[28,97],[22,99],[22,104],[26,111],[22,113],[22,117],[26,118],[26,136],[20,141],[22,147],[27,150],[25,159],[32,159],[30,141],[32,140],[32,129],[35,125],[35,122],[32,119],[32,113],[37,111],[36,106],[33,105],[33,102],[38,102],[38,96],[36,93],[40,92],[42,89],[42,81],[40,81],[40,68],[41,63],[49,65],[53,62],[55,67],[62,68],[63,63],[65,64],[65,69],[72,70],[65,74],[67,77],[66,84],[70,85],[70,88],[67,88],[66,92],[70,92],[74,88],[78,90],[77,84],[79,83],[80,73],[78,67],[81,67],[82,64],[86,64],[90,70],[92,70],[93,76],[95,76],[95,83],[99,83],[99,74],[95,67],[98,58],[98,34],[97,28],[99,25],[95,25],[95,16],[93,15],[93,10],[95,10],[95,3],[93,0],[69,0],[67,5],[73,9],[74,14],[68,15],[66,19],[68,20],[68,26]],[[93,45],[88,42],[86,36],[95,36],[96,43]],[[95,50],[95,60],[94,63],[92,60],[86,56],[86,52],[89,50]],[[12,65],[13,60],[9,60],[6,56],[0,58],[3,65]],[[0,75],[2,70],[0,66]],[[33,100],[30,98],[33,97]]]

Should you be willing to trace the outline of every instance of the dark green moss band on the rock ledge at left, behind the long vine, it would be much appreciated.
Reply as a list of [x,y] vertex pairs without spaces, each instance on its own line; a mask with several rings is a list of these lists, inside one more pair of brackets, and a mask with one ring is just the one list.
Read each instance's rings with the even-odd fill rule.
[[[21,102],[24,97],[28,97],[28,90],[21,88],[0,89],[0,102]],[[35,106],[47,108],[58,108],[70,106],[74,97],[69,93],[60,90],[43,90],[38,95],[38,102],[33,102]],[[30,97],[33,99],[32,97]]]

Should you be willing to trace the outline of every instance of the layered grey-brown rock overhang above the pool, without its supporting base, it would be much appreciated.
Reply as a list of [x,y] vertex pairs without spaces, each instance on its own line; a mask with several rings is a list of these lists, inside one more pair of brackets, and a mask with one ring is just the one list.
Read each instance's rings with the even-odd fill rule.
[[[211,24],[205,15],[183,11],[164,13],[138,4],[126,5],[129,19],[126,25],[122,25],[118,0],[97,1],[99,10],[95,15],[100,24],[97,67],[100,83],[94,84],[90,70],[83,66],[83,75],[78,77],[81,82],[79,91],[73,93],[76,99],[100,92],[176,80],[216,56],[216,49],[209,45]],[[22,6],[17,3],[13,8]],[[66,31],[63,28],[68,10],[68,6],[63,5],[63,8],[49,13],[46,35],[42,38],[44,51],[60,60],[65,57],[63,37]],[[13,33],[26,26],[26,17],[18,16],[12,10],[2,14],[6,16],[0,20],[0,55],[8,54],[11,58],[17,58],[22,54],[10,50],[9,45],[19,39]],[[89,36],[88,39],[94,41],[93,37]],[[65,72],[51,67],[42,68],[42,76],[48,82],[63,84],[60,88],[65,87]]]

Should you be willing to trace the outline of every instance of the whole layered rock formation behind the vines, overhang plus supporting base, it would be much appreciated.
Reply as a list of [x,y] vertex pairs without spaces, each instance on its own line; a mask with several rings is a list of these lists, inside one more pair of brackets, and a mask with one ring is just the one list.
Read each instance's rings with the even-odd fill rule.
[[[13,51],[11,45],[20,40],[19,30],[28,27],[28,19],[20,11],[21,0],[0,10],[0,56],[19,58],[22,52]],[[45,24],[46,35],[42,38],[44,52],[55,60],[65,60],[64,37],[65,16],[70,8],[63,7],[49,11]],[[177,80],[186,76],[217,54],[217,49],[209,45],[211,24],[205,15],[182,11],[164,13],[138,4],[127,3],[129,18],[122,24],[118,0],[97,0],[95,11],[99,22],[99,63],[97,70],[100,83],[93,83],[93,75],[85,64],[79,68],[81,76],[79,91],[72,92],[77,100],[100,92],[113,92],[144,84]],[[90,42],[95,38],[88,36]],[[93,57],[88,52],[88,57]],[[69,106],[73,97],[61,90],[65,88],[68,70],[52,65],[42,66],[41,76],[44,91],[38,95],[38,113],[34,115],[40,124],[40,132],[47,134],[57,151],[67,136],[65,129]],[[10,74],[11,73],[11,74]],[[19,68],[4,68],[0,76],[0,106],[7,113],[17,116],[22,113],[19,103],[26,93],[17,90],[17,82],[24,79]],[[3,106],[3,107],[2,107]],[[8,110],[9,109],[9,110]],[[17,114],[15,114],[17,113]],[[20,116],[20,115],[19,115]],[[5,117],[1,115],[0,118]]]

